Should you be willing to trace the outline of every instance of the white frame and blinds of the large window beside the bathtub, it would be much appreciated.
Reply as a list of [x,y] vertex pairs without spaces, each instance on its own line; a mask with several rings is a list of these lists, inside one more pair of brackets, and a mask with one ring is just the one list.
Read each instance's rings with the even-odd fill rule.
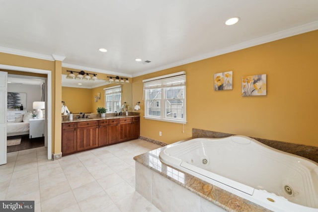
[[[144,82],[144,101],[145,101],[145,119],[152,119],[158,121],[174,122],[185,124],[186,121],[186,77],[185,71],[180,71],[172,74],[167,74],[159,77],[154,77],[150,79],[143,80]],[[166,113],[166,102],[168,101],[166,95],[166,90],[172,87],[183,87],[183,98],[177,98],[176,100],[182,99],[182,107],[177,108],[178,111],[181,111],[182,116],[179,118],[167,117]],[[156,107],[160,109],[160,115],[150,114],[150,104],[148,104],[148,91],[151,89],[157,89],[157,92],[160,93],[160,99],[153,99],[155,105],[152,105],[152,108]],[[159,102],[159,107],[158,107]]]

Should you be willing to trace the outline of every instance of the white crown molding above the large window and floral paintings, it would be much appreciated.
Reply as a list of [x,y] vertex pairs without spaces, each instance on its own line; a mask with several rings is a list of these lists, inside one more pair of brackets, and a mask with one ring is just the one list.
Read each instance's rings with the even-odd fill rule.
[[276,32],[276,33],[273,33],[273,34],[269,34],[269,35],[260,37],[260,38],[256,38],[256,39],[253,39],[253,40],[242,42],[242,43],[230,46],[230,47],[219,49],[219,50],[214,51],[214,52],[209,52],[207,54],[202,54],[202,55],[199,55],[199,56],[196,56],[196,57],[192,57],[192,58],[181,60],[181,61],[178,61],[178,62],[175,62],[175,63],[167,64],[165,66],[161,66],[161,67],[158,67],[158,68],[155,68],[155,69],[134,73],[134,74],[132,74],[132,76],[136,77],[136,76],[141,76],[141,75],[145,75],[145,74],[156,72],[156,71],[162,71],[162,70],[165,70],[165,69],[170,69],[170,68],[173,68],[173,67],[177,67],[177,66],[193,63],[193,62],[196,62],[196,61],[204,60],[204,59],[207,59],[207,58],[212,58],[212,57],[216,57],[216,56],[219,56],[219,55],[227,54],[227,53],[230,53],[230,52],[239,51],[239,50],[246,49],[246,48],[249,48],[249,47],[252,47],[252,46],[257,46],[257,45],[261,45],[261,44],[264,44],[264,43],[269,43],[269,42],[272,42],[272,41],[280,40],[280,39],[283,39],[283,38],[287,38],[287,37],[303,34],[303,33],[306,33],[306,32],[317,30],[317,29],[318,29],[318,21],[314,21],[314,22],[311,22],[311,23],[308,23],[308,24],[304,24],[304,25],[301,25],[301,26],[297,26],[297,27],[291,28],[291,29],[283,30],[283,31],[280,31],[280,32]]

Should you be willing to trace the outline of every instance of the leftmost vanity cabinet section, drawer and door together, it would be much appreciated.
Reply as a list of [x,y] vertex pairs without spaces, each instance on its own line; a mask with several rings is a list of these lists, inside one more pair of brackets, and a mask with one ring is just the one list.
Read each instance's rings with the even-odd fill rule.
[[75,153],[77,151],[77,124],[62,124],[62,152],[63,155]]

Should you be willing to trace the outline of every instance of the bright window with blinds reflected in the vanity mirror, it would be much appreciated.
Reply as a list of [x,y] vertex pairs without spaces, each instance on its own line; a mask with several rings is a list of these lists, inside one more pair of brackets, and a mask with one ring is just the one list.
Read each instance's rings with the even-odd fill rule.
[[105,90],[105,108],[107,113],[120,112],[121,109],[121,86],[104,88]]

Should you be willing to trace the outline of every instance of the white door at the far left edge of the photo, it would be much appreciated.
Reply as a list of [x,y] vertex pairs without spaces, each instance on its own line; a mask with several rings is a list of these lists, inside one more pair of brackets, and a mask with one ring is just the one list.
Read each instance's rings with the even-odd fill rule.
[[8,73],[0,71],[0,165],[6,163],[6,107]]

